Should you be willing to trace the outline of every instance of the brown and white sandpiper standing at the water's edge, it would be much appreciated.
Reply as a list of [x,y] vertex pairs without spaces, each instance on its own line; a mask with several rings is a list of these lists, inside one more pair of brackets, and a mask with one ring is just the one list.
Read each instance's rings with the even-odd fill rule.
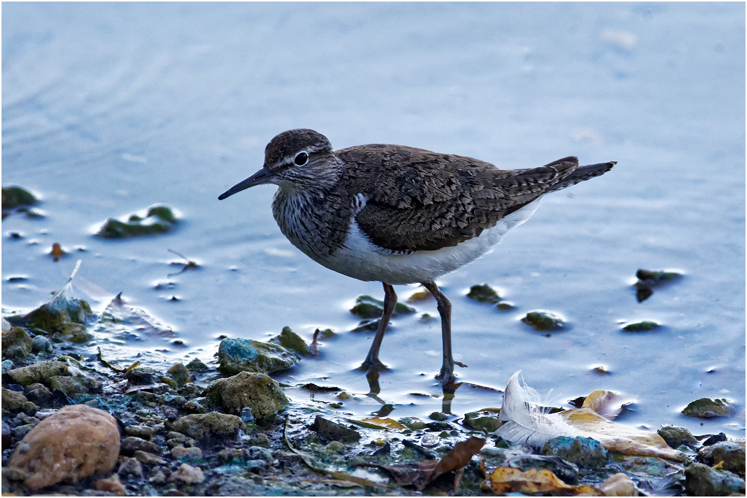
[[294,246],[330,270],[382,282],[384,311],[364,370],[386,368],[379,347],[397,304],[392,286],[423,284],[441,315],[444,361],[436,379],[447,385],[456,380],[459,363],[451,353],[451,303],[436,278],[490,252],[529,219],[545,193],[602,175],[614,164],[578,166],[568,157],[537,168],[498,169],[382,143],[333,151],[323,134],[297,129],[270,140],[264,166],[218,199],[276,184],[273,216]]

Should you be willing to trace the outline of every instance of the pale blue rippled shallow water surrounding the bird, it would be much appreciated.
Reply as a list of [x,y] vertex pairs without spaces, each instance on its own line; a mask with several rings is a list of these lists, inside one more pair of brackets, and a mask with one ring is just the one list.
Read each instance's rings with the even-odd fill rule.
[[[291,246],[270,212],[273,187],[217,201],[261,167],[271,137],[314,128],[335,148],[401,143],[506,168],[566,155],[614,160],[603,177],[546,196],[495,252],[438,281],[453,303],[455,358],[469,365],[459,379],[502,388],[523,370],[556,405],[616,390],[638,396],[625,423],[744,437],[744,9],[4,4],[2,181],[41,196],[46,217],[2,222],[3,308],[39,305],[79,258],[76,290],[96,311],[121,291],[185,342],[141,337],[133,351],[207,361],[221,334],[264,339],[291,326],[309,340],[329,327],[337,334],[320,358],[276,378],[367,393],[353,369],[373,333],[347,332],[358,322],[348,310],[358,294],[381,298],[380,284],[333,273]],[[156,202],[179,211],[179,228],[93,237],[107,217]],[[52,243],[69,255],[52,261]],[[169,277],[181,267],[167,249],[199,269]],[[638,268],[685,275],[638,303]],[[515,310],[465,297],[483,282]],[[416,288],[396,287],[402,300]],[[343,411],[441,409],[440,326],[420,319],[437,316],[436,305],[414,306],[418,314],[394,320],[385,337],[391,370],[379,398]],[[570,326],[534,332],[518,321],[534,309]],[[622,332],[639,320],[663,327]],[[731,399],[737,415],[679,413],[703,396]],[[497,391],[463,385],[451,410],[495,405]]]

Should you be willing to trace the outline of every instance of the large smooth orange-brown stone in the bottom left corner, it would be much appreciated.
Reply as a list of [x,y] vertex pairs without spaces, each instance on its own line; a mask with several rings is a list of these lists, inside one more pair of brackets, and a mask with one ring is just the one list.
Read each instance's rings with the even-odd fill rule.
[[10,455],[8,467],[28,474],[37,490],[111,472],[120,454],[120,432],[110,414],[87,405],[65,406],[31,429]]

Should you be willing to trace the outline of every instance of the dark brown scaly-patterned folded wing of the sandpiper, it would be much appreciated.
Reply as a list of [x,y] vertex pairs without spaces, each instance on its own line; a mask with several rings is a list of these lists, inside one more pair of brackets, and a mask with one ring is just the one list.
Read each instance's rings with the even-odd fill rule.
[[379,144],[335,154],[357,165],[346,172],[350,194],[368,198],[356,222],[391,251],[434,251],[477,237],[578,166],[569,157],[539,168],[498,169],[464,156]]

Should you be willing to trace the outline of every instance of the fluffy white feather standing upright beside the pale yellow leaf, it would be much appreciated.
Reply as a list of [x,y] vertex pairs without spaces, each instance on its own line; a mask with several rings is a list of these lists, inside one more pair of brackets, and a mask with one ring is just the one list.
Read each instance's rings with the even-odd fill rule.
[[577,429],[568,425],[560,414],[548,414],[539,407],[537,391],[527,385],[519,385],[520,372],[511,376],[503,391],[499,420],[506,423],[494,434],[514,444],[531,446],[542,446],[558,436],[579,435]]

